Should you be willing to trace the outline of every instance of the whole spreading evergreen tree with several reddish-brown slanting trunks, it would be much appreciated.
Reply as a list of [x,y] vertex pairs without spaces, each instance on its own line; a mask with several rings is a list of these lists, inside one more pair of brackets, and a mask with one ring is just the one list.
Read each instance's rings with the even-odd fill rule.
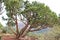
[[[28,32],[42,30],[47,27],[52,27],[57,22],[56,13],[52,12],[48,6],[43,3],[23,0],[4,0],[6,6],[7,25],[11,31],[19,37],[24,37]],[[18,19],[19,18],[19,19]],[[18,29],[18,20],[25,24],[20,31]],[[11,28],[16,26],[16,32]]]

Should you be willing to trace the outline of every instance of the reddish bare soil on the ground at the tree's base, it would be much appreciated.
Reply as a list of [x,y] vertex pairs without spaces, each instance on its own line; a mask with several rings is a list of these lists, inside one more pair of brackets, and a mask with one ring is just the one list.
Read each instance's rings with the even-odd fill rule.
[[[3,35],[2,40],[15,40],[15,36]],[[20,40],[38,40],[38,38],[25,36],[24,38],[20,38]]]

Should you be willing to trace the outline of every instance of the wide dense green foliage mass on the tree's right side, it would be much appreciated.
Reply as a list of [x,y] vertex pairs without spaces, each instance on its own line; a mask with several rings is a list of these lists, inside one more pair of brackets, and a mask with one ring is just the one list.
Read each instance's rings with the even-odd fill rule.
[[25,2],[25,9],[21,14],[29,21],[31,27],[40,25],[51,26],[57,22],[56,13],[52,12],[50,8],[43,3]]

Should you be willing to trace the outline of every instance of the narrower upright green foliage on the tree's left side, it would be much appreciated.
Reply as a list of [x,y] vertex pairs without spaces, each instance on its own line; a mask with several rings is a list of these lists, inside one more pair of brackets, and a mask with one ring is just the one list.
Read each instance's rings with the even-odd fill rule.
[[7,11],[6,15],[8,16],[8,19],[5,19],[5,20],[9,20],[10,25],[14,26],[15,23],[13,21],[15,20],[15,18],[13,18],[13,16],[16,16],[16,14],[19,13],[22,0],[9,0],[9,1],[4,0],[4,4],[6,6],[6,11]]

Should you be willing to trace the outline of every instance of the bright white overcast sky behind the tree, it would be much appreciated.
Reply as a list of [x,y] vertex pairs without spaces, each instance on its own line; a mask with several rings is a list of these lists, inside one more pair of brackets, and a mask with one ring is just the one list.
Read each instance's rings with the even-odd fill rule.
[[[60,0],[28,0],[28,1],[30,1],[30,2],[37,1],[37,2],[40,2],[40,3],[44,3],[45,5],[49,6],[50,9],[52,11],[54,11],[57,15],[60,14]],[[6,13],[6,11],[2,15],[0,15],[0,22],[4,26],[6,25],[6,21],[2,20],[2,16],[7,17],[5,13]]]

